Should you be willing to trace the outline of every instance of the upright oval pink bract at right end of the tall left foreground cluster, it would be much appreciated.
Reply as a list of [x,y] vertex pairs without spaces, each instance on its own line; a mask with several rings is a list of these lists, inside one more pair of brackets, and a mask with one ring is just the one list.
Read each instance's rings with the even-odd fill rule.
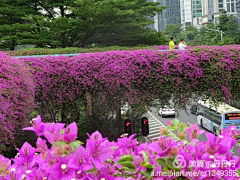
[[66,127],[63,134],[63,140],[65,142],[73,142],[77,138],[77,124],[75,122],[71,123]]

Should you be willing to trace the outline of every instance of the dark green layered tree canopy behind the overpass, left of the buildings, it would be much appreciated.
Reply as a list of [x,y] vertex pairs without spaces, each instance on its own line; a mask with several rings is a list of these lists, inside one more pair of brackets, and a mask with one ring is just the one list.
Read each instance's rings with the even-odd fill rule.
[[153,45],[146,37],[163,35],[147,26],[164,8],[145,0],[2,0],[0,48]]

